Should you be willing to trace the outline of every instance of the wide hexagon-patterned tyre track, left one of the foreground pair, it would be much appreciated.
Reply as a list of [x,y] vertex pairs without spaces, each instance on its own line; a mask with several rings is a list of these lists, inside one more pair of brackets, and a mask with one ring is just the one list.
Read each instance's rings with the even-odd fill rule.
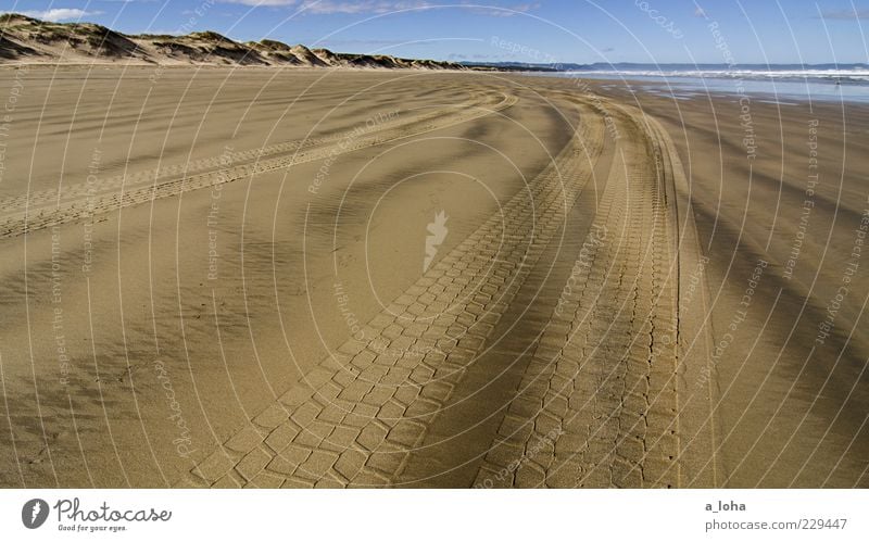
[[587,152],[602,138],[589,115],[554,164],[369,322],[364,340],[343,343],[179,486],[396,484],[589,180]]

